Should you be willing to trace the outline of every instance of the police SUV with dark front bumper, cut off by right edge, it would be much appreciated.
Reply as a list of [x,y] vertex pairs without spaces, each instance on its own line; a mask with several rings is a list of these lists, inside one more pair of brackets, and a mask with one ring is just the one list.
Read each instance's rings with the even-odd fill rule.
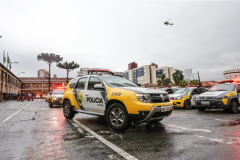
[[199,111],[205,109],[222,108],[225,111],[238,113],[240,102],[240,79],[220,81],[211,87],[207,92],[197,97],[197,107]]

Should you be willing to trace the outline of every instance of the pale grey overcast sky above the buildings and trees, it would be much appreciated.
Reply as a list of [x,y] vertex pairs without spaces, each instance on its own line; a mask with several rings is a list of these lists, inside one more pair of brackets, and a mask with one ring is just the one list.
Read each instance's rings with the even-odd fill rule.
[[[133,61],[192,68],[201,80],[240,69],[240,1],[0,0],[0,35],[0,53],[19,62],[11,71],[20,77],[48,70],[40,53],[119,72]],[[51,73],[66,77],[56,63]]]

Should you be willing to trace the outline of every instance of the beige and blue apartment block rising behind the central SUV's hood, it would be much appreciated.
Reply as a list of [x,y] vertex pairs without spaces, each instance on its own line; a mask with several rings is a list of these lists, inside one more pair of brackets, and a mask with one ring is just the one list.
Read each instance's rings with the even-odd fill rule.
[[[135,62],[133,62],[135,63]],[[128,65],[131,66],[131,65]],[[136,84],[157,84],[158,76],[165,73],[166,78],[170,78],[173,81],[172,74],[173,67],[161,67],[158,68],[157,64],[144,65],[141,67],[133,68],[123,72],[123,77]]]

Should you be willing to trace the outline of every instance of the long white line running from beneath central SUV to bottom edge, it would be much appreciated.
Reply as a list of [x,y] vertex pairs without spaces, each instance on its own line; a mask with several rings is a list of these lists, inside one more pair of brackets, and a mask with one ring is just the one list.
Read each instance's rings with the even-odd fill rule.
[[103,138],[102,136],[98,135],[96,132],[92,131],[91,129],[89,129],[88,127],[86,127],[85,125],[83,125],[82,123],[78,122],[77,120],[73,119],[73,121],[75,123],[77,123],[81,128],[83,128],[84,130],[86,130],[87,132],[89,132],[91,135],[93,135],[95,138],[97,138],[99,141],[101,141],[102,143],[104,143],[105,145],[107,145],[109,148],[111,148],[112,150],[114,150],[116,153],[118,153],[120,156],[124,157],[127,160],[137,160],[136,157],[128,154],[127,152],[125,152],[124,150],[122,150],[121,148],[119,148],[118,146],[114,145],[113,143],[109,142],[108,140],[106,140],[105,138]]

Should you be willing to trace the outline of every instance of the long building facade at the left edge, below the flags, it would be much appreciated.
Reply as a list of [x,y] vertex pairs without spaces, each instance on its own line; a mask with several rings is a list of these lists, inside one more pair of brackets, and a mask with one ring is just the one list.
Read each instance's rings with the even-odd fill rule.
[[0,63],[0,101],[8,94],[20,92],[21,80]]

